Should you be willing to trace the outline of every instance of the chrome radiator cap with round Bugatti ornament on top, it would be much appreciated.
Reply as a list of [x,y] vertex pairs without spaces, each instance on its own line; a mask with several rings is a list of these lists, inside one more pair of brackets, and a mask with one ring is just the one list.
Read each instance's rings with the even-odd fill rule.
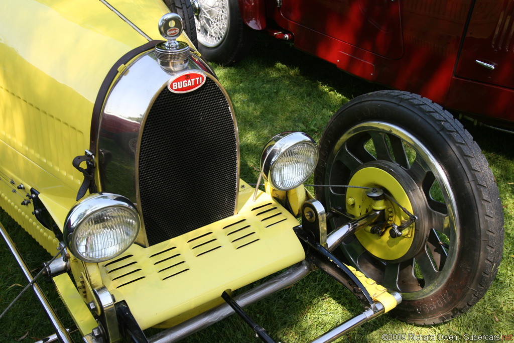
[[189,45],[177,41],[182,31],[182,18],[176,13],[164,14],[159,20],[159,32],[166,42],[155,46],[155,57],[160,67],[170,74],[186,69],[188,66]]

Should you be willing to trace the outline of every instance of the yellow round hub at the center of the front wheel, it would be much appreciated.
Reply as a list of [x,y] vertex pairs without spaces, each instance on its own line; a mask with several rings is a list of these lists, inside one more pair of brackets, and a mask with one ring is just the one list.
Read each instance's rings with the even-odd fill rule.
[[[401,262],[414,257],[423,247],[428,227],[423,225],[426,198],[412,178],[400,166],[388,161],[372,161],[363,164],[353,174],[349,185],[377,187],[389,194],[410,213],[420,220],[401,232],[401,236],[390,234],[393,224],[401,225],[409,220],[409,215],[389,198],[381,201],[384,210],[383,222],[366,227],[355,234],[362,246],[376,258],[384,262]],[[363,215],[376,208],[376,203],[366,195],[364,189],[348,188],[346,211],[355,216]],[[385,230],[384,230],[385,229]]]

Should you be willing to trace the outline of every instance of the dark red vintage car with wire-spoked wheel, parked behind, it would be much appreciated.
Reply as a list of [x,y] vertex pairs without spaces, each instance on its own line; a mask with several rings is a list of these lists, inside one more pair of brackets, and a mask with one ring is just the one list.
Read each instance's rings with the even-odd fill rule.
[[514,127],[514,0],[192,0],[198,48],[229,64],[264,30],[365,80]]

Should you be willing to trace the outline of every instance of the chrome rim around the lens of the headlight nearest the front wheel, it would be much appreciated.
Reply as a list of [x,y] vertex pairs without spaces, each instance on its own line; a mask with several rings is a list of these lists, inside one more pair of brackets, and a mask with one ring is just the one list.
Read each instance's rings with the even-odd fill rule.
[[[277,185],[276,183],[274,183],[272,177],[273,167],[276,166],[277,161],[286,152],[288,152],[291,148],[301,144],[309,145],[313,147],[316,151],[315,163],[310,168],[310,172],[306,173],[305,176],[301,179],[301,182],[297,182],[295,184],[295,187],[284,188],[280,185]],[[316,144],[313,138],[311,138],[309,135],[303,132],[286,131],[271,138],[264,147],[261,155],[261,172],[266,182],[268,182],[273,189],[280,191],[288,191],[302,185],[309,178],[309,176],[314,172],[318,160],[319,149],[318,145]]]

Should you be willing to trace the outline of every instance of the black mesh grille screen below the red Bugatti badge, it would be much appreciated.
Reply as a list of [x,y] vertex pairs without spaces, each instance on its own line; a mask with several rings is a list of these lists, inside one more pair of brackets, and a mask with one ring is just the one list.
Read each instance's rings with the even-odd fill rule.
[[164,88],[142,130],[139,194],[150,245],[234,214],[237,138],[214,81],[186,94]]

